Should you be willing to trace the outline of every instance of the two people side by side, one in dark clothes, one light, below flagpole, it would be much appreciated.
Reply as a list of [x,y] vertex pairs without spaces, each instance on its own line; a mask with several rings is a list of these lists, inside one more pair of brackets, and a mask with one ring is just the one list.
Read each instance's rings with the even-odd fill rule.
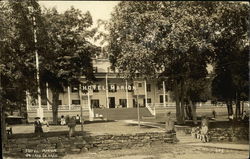
[[44,117],[42,121],[40,121],[40,117],[36,117],[34,122],[35,126],[35,134],[40,136],[43,132],[49,132],[49,123]]

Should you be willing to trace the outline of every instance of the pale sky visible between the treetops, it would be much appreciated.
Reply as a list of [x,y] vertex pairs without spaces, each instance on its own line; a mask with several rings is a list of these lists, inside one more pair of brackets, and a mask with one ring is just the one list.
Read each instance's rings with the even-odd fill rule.
[[[111,18],[111,12],[119,1],[38,1],[38,3],[42,8],[55,7],[59,13],[63,13],[71,6],[80,9],[83,13],[89,11],[93,18],[93,27],[96,27],[98,19],[109,20]],[[90,41],[100,45],[98,41]]]

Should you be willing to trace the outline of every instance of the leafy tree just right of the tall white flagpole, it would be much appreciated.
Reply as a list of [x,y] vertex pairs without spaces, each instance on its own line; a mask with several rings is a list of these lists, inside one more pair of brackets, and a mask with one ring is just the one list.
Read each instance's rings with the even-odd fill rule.
[[91,57],[98,51],[88,39],[95,30],[89,12],[85,14],[71,7],[63,14],[55,9],[43,13],[43,27],[46,39],[46,52],[41,54],[41,81],[47,82],[52,91],[53,122],[58,119],[59,93],[70,85],[79,85],[81,76],[93,80]]

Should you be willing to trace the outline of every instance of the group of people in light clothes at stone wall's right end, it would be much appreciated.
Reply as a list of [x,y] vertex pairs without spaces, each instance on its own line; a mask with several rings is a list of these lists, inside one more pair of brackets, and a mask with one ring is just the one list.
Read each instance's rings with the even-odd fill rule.
[[196,139],[200,139],[202,142],[209,142],[207,117],[203,117],[201,127],[192,128],[191,135]]

